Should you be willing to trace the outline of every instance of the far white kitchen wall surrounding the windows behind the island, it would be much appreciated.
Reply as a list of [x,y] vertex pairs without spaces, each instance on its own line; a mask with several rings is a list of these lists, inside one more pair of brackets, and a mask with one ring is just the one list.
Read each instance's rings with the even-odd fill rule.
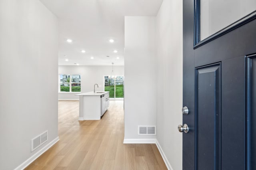
[[[104,91],[104,76],[111,72],[112,66],[59,66],[59,74],[81,74],[81,93],[93,91],[95,83],[99,85],[95,91]],[[124,66],[114,65],[114,74],[124,75]],[[60,92],[58,99],[79,99],[76,94],[79,93]]]

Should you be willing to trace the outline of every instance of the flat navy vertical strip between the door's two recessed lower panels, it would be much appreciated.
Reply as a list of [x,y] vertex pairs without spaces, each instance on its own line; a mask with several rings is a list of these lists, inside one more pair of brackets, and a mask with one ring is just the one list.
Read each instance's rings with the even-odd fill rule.
[[222,61],[222,169],[245,168],[245,57]]

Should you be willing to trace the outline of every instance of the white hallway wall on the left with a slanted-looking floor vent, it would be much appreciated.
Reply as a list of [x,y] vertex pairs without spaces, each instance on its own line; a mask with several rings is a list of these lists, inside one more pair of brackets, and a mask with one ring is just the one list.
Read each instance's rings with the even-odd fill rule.
[[[0,169],[58,137],[58,23],[39,0],[0,1]],[[31,139],[48,142],[31,152]]]

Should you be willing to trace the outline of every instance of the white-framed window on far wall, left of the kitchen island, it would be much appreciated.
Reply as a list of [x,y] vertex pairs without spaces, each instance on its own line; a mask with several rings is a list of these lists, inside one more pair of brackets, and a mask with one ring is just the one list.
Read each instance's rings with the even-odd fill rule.
[[[71,77],[71,81],[70,81]],[[59,76],[60,92],[81,92],[81,75],[80,74],[60,74]]]

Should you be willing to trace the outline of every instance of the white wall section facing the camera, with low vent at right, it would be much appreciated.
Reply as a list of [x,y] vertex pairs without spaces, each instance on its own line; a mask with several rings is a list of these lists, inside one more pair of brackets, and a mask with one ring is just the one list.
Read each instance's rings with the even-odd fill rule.
[[125,16],[124,139],[138,135],[138,125],[156,125],[156,17]]

